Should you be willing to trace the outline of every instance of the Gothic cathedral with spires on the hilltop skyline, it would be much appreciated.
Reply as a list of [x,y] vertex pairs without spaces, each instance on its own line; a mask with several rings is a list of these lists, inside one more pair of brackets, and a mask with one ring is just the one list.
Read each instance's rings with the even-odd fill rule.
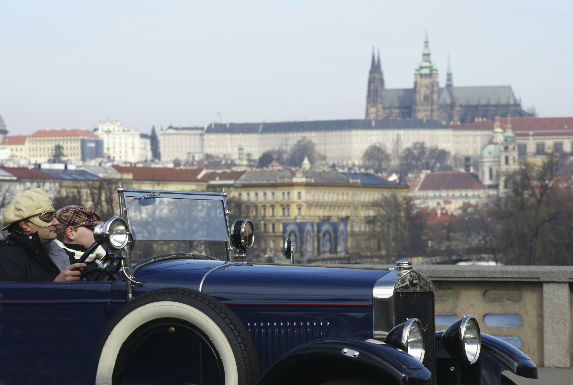
[[510,115],[525,117],[534,113],[521,109],[521,101],[509,85],[454,87],[449,58],[446,87],[440,88],[438,68],[430,60],[427,33],[422,62],[414,70],[414,88],[384,87],[380,53],[376,60],[372,52],[366,119],[435,119],[444,124],[460,124]]

